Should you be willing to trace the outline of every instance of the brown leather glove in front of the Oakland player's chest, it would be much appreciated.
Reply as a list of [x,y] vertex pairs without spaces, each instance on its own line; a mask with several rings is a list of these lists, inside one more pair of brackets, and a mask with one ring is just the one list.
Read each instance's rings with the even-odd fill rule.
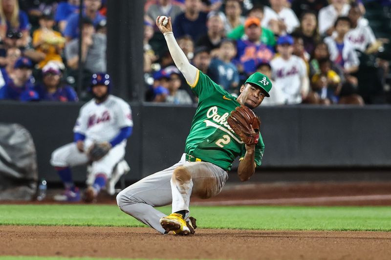
[[256,144],[260,138],[261,121],[247,106],[235,108],[227,122],[245,144]]

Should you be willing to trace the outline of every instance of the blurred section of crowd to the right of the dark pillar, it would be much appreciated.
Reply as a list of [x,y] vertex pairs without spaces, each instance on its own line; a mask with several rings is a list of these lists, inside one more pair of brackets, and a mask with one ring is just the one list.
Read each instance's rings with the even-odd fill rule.
[[174,65],[157,16],[172,18],[188,59],[233,95],[259,71],[262,104],[391,103],[389,0],[147,0],[146,100],[197,102]]

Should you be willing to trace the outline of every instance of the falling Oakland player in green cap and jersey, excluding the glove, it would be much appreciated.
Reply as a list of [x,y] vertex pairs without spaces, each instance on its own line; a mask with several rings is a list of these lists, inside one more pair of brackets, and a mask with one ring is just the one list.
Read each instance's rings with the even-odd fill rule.
[[[260,135],[256,144],[245,144],[227,123],[231,111],[240,105],[258,107],[269,97],[270,80],[257,72],[240,87],[238,98],[231,96],[186,58],[174,38],[171,18],[164,34],[175,65],[198,97],[185,153],[178,163],[130,185],[117,196],[119,208],[162,234],[194,234],[195,221],[190,216],[190,196],[208,199],[216,196],[228,179],[233,161],[240,157],[238,176],[244,181],[261,165],[264,144]],[[166,216],[154,207],[172,203],[172,214]]]

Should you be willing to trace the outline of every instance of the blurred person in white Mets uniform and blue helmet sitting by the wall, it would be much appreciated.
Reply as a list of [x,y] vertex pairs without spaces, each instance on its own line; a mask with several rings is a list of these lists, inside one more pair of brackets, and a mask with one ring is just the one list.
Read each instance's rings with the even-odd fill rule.
[[94,98],[80,109],[73,128],[74,142],[52,153],[50,162],[65,185],[65,192],[55,196],[55,200],[81,200],[80,191],[72,180],[72,166],[90,164],[87,168],[88,188],[84,194],[86,202],[92,202],[102,189],[114,194],[115,183],[129,171],[123,158],[133,126],[130,106],[109,94],[108,74],[93,74],[90,91]]

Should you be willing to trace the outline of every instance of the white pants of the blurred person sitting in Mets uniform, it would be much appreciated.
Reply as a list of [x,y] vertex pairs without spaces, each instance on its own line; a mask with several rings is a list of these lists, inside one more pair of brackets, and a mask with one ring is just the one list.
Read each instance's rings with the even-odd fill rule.
[[[111,177],[114,166],[125,156],[125,143],[120,143],[110,149],[109,153],[101,160],[93,161],[91,174],[103,173]],[[72,167],[87,164],[88,157],[77,149],[76,143],[71,142],[54,150],[50,164],[54,167]]]

